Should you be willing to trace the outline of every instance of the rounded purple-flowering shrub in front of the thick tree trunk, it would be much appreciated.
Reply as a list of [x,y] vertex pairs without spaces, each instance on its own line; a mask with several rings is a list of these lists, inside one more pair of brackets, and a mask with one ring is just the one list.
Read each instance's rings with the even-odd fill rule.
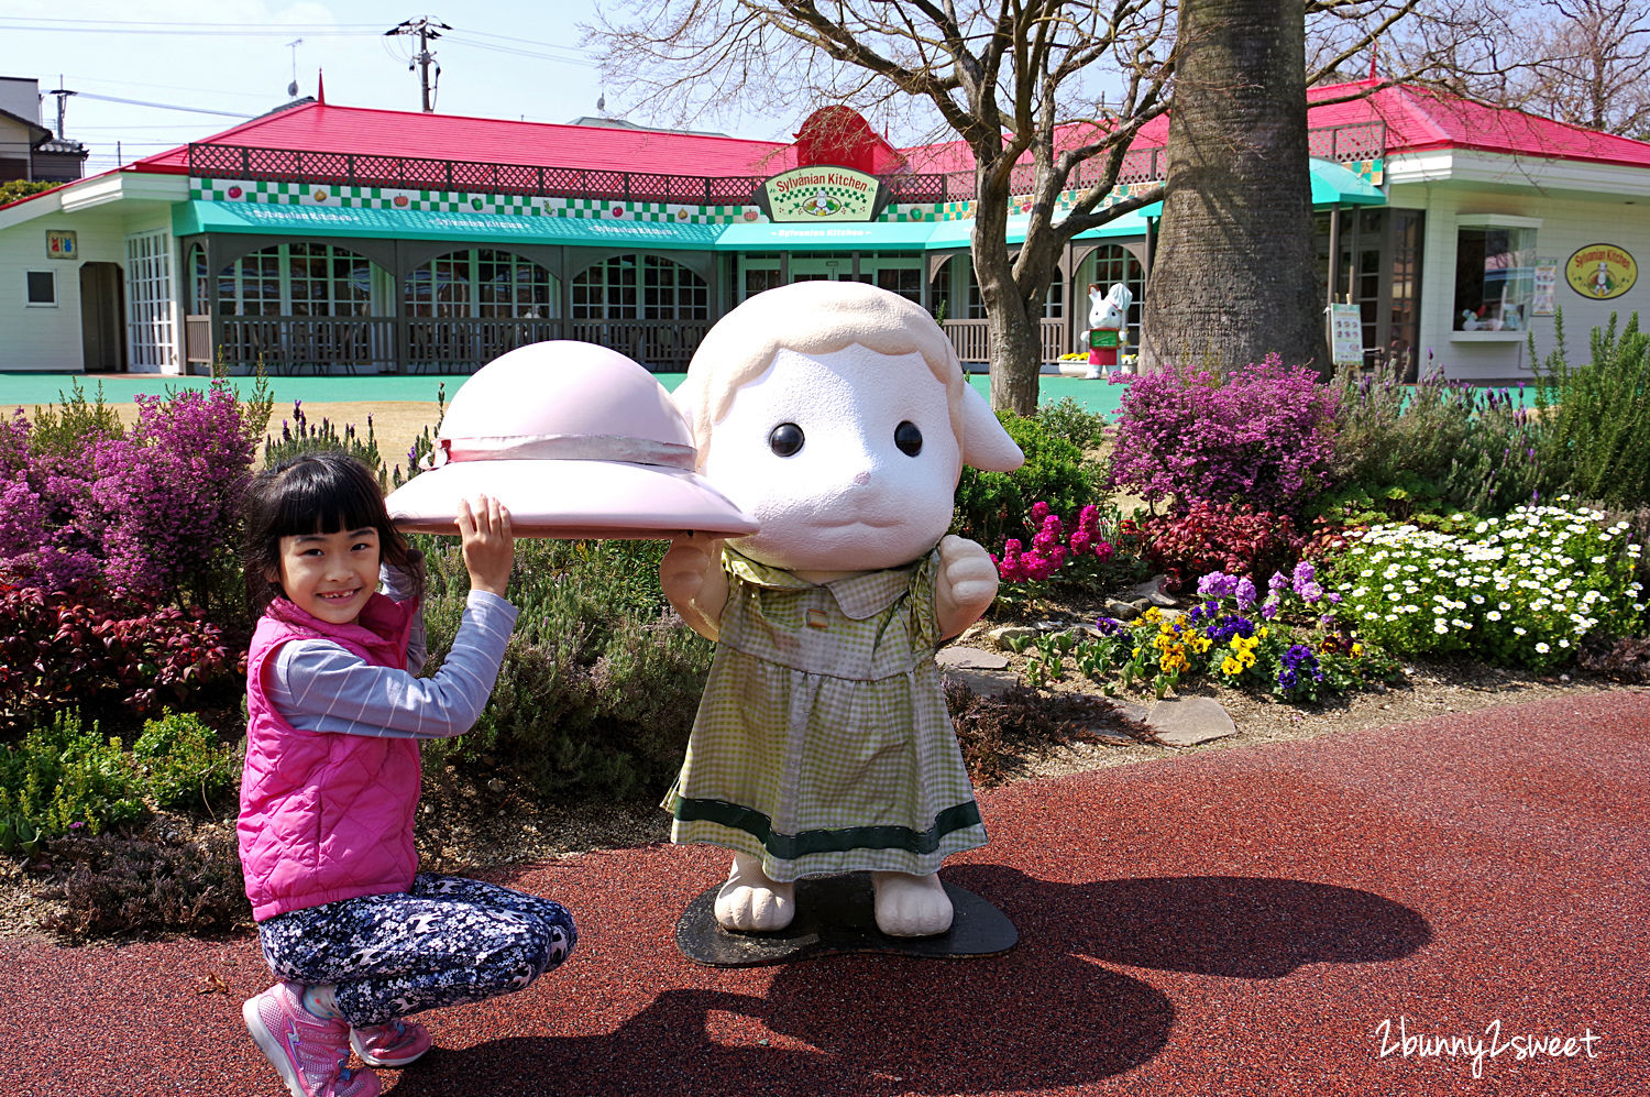
[[1277,355],[1213,373],[1134,378],[1122,398],[1110,487],[1178,510],[1206,500],[1299,511],[1330,485],[1340,393]]

